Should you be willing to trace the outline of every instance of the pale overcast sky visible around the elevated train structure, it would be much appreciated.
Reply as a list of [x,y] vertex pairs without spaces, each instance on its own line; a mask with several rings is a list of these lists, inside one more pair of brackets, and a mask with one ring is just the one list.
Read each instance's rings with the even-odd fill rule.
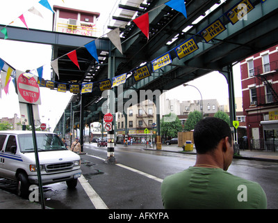
[[[1,3],[0,24],[14,23],[13,26],[25,27],[19,16],[24,14],[26,24],[31,29],[44,29],[51,31],[53,13],[38,3],[39,0],[10,0]],[[101,13],[97,26],[102,29],[104,22],[108,19],[109,13],[115,5],[115,0],[49,0],[51,7],[54,5],[67,8],[77,8]],[[28,13],[27,10],[34,6],[44,18]],[[8,27],[7,27],[8,29]],[[0,58],[10,63],[17,70],[33,70],[44,66],[44,79],[51,78],[51,45],[40,45],[34,43],[23,43],[11,40],[0,40]],[[202,93],[203,99],[218,99],[220,105],[227,104],[228,86],[223,75],[213,72],[204,77],[188,82],[196,86]],[[241,97],[240,68],[234,69],[234,84],[236,86],[236,97]],[[40,88],[42,105],[39,106],[42,123],[47,123],[54,128],[56,122],[63,114],[72,94],[59,93],[54,90]],[[199,100],[199,92],[193,87],[180,86],[167,94],[169,98],[178,100]],[[9,93],[2,91],[0,99],[0,118],[12,118],[14,114],[20,116],[19,102],[13,82],[10,82]]]

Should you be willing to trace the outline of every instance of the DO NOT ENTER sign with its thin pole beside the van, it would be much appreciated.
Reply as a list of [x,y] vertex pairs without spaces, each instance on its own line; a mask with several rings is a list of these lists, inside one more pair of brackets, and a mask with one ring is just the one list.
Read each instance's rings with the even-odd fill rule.
[[38,174],[38,185],[40,190],[40,199],[42,209],[45,209],[44,204],[44,194],[42,190],[42,176],[40,174],[40,160],[38,155],[38,144],[37,138],[35,136],[35,123],[34,123],[34,114],[33,114],[33,104],[40,105],[40,87],[38,86],[37,80],[35,77],[24,75],[23,73],[18,75],[17,73],[17,94],[19,102],[27,103],[28,115],[30,116],[32,134],[33,134],[33,146],[35,153],[35,165]]

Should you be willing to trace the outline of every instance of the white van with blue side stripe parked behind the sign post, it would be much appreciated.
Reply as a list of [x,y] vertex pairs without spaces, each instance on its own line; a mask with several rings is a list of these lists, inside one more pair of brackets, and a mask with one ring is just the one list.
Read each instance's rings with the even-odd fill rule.
[[[67,187],[76,187],[80,156],[69,151],[57,134],[35,134],[42,185],[66,181]],[[29,186],[38,185],[31,131],[0,131],[0,178],[16,180],[20,197],[28,197]]]

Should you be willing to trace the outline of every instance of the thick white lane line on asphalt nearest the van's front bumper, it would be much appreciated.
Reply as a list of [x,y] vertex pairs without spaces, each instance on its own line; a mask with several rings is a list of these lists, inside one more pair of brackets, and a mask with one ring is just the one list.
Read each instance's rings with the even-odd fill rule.
[[79,183],[81,183],[83,189],[85,190],[86,194],[90,198],[90,201],[92,201],[92,204],[95,206],[96,209],[108,209],[104,201],[99,197],[99,194],[95,192],[94,189],[92,189],[90,183],[85,179],[83,175],[78,178]]

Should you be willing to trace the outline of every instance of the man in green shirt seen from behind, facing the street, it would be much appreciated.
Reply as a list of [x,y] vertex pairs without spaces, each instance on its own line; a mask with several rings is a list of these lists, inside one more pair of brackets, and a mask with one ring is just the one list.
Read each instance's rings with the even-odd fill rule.
[[193,133],[196,163],[167,176],[161,185],[165,208],[266,208],[259,183],[227,172],[234,155],[229,125],[220,118],[204,118]]

